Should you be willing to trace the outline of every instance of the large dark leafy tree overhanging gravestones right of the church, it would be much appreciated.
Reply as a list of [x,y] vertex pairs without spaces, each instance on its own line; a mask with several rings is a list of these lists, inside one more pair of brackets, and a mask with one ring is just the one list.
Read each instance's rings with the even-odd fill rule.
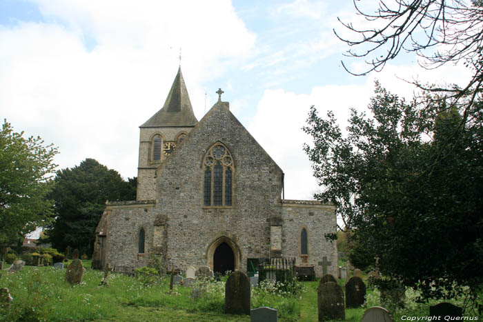
[[335,204],[342,229],[380,257],[383,274],[423,299],[451,298],[465,287],[476,299],[483,285],[483,113],[462,126],[451,101],[422,108],[378,83],[369,109],[373,117],[352,110],[343,134],[332,112],[323,119],[311,108],[304,131],[314,143],[304,150],[325,188],[315,197]]

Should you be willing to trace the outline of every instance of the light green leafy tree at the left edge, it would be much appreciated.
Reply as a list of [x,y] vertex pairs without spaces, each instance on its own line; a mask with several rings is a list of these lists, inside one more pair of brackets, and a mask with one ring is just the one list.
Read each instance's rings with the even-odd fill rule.
[[5,120],[0,132],[0,242],[12,243],[52,221],[53,158],[57,148],[23,137]]

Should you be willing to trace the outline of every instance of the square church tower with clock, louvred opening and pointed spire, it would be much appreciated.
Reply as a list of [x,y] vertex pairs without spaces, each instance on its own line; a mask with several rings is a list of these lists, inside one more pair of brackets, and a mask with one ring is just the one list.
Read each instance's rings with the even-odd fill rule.
[[139,126],[137,201],[156,199],[156,170],[198,123],[181,67],[163,108]]

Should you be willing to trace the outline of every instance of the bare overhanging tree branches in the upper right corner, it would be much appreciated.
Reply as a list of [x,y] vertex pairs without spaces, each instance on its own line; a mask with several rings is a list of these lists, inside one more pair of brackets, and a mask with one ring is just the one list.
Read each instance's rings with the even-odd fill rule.
[[[413,83],[424,90],[445,92],[446,97],[454,99],[453,104],[462,105],[463,121],[466,121],[472,114],[473,101],[482,97],[482,0],[380,0],[373,13],[362,10],[356,1],[353,3],[357,14],[371,26],[357,28],[341,21],[354,37],[348,39],[334,32],[349,46],[357,48],[348,50],[346,56],[366,58],[368,68],[360,73],[351,72],[342,61],[344,68],[356,75],[379,71],[400,52],[416,52],[420,65],[428,69],[461,61],[473,73],[464,88]],[[460,102],[462,97],[470,99]]]

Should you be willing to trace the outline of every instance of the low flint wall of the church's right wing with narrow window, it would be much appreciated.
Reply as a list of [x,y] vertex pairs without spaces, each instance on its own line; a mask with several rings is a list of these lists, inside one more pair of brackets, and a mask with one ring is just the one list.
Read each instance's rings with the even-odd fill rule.
[[[337,241],[326,241],[324,234],[336,233],[335,207],[318,201],[282,201],[282,254],[295,257],[297,265],[315,266],[317,277],[322,276],[324,256],[331,262],[328,273],[337,277]],[[308,232],[308,263],[300,257],[300,234],[302,228]]]

